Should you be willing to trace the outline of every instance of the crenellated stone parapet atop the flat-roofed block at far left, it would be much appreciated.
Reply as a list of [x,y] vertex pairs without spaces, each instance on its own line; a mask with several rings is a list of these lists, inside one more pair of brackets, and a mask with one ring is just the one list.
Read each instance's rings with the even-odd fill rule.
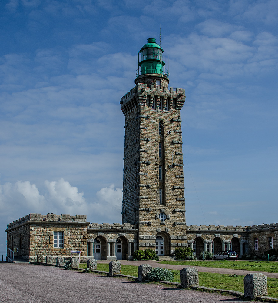
[[53,213],[48,213],[47,215],[41,214],[29,214],[20,219],[17,219],[7,225],[7,228],[12,228],[16,225],[22,224],[27,221],[51,221],[51,222],[86,222],[87,216],[86,215],[56,215]]

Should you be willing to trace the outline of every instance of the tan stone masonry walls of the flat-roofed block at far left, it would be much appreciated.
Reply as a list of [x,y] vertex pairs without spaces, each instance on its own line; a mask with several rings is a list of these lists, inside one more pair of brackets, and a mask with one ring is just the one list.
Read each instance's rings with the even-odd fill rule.
[[[21,232],[22,256],[69,256],[71,250],[80,250],[81,255],[86,256],[88,224],[86,215],[29,214],[8,224],[7,242],[10,245],[12,236],[14,239],[19,239],[18,235]],[[63,248],[54,248],[53,233],[56,231],[63,232]],[[18,241],[14,240],[14,245],[18,244]]]

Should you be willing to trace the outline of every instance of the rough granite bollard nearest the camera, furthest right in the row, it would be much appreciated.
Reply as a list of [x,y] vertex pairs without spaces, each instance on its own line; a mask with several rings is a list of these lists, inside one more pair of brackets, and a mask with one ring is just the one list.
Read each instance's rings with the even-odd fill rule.
[[243,279],[244,298],[255,300],[258,296],[267,296],[267,277],[264,274],[248,274]]

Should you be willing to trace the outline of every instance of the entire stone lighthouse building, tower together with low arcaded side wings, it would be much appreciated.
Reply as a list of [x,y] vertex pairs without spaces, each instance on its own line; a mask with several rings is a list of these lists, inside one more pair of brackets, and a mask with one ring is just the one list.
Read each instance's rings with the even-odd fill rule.
[[163,49],[149,38],[141,50],[135,86],[121,98],[125,116],[122,224],[86,222],[85,215],[30,214],[8,224],[7,247],[15,255],[81,255],[131,259],[152,248],[171,256],[178,247],[262,254],[275,248],[278,224],[186,225],[182,130],[182,88],[169,87]]

